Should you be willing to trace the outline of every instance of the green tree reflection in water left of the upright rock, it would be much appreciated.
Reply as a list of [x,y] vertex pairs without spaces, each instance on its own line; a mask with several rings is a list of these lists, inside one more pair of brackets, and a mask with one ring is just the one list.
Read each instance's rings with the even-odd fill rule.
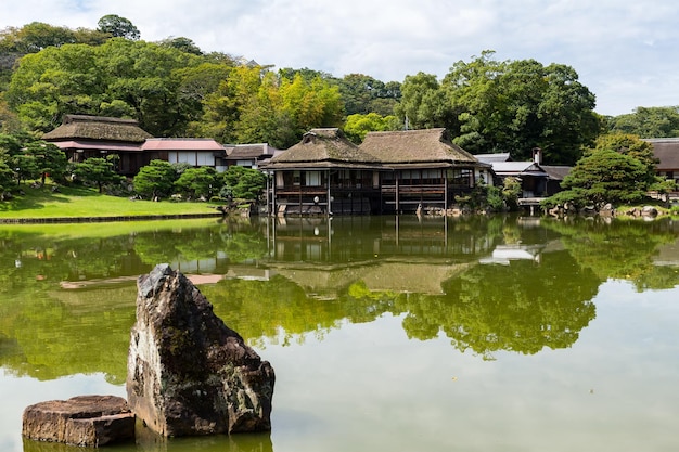
[[12,338],[0,365],[38,379],[103,372],[121,384],[136,297],[130,283],[26,296],[13,307],[0,300],[0,335]]

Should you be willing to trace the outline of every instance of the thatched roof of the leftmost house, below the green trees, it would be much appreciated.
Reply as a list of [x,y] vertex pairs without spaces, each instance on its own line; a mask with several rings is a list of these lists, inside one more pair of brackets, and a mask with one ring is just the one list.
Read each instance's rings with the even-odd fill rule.
[[105,140],[142,143],[151,133],[142,130],[133,119],[105,116],[66,115],[56,129],[42,135],[43,140]]

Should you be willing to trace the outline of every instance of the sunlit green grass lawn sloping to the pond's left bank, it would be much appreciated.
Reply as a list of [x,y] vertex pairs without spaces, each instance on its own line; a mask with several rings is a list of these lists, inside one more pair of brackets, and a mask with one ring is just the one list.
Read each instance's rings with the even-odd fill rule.
[[0,219],[75,218],[75,217],[138,217],[161,215],[214,214],[217,203],[174,203],[169,201],[131,201],[127,197],[102,195],[94,189],[51,185],[33,189],[13,199],[0,202]]

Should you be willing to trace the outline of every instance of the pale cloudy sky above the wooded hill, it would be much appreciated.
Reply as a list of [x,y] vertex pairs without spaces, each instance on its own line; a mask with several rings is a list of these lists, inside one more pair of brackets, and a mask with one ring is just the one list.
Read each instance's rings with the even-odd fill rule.
[[34,21],[97,28],[130,20],[141,39],[187,37],[204,51],[403,81],[443,78],[484,50],[572,66],[597,112],[679,105],[675,0],[2,0],[0,28]]

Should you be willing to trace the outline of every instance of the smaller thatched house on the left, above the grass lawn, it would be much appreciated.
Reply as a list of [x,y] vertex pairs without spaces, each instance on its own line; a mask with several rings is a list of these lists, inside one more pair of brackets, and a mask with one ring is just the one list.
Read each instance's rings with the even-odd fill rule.
[[123,175],[136,175],[154,157],[141,147],[149,138],[151,133],[133,119],[86,115],[66,115],[61,126],[42,135],[63,150],[69,162],[117,155]]

